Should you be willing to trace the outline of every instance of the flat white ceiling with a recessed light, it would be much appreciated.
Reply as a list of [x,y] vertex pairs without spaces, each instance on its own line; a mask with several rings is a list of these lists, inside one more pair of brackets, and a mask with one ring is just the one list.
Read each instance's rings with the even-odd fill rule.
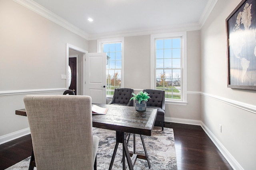
[[[194,27],[200,29],[217,0],[34,0],[89,37]],[[93,21],[87,21],[92,18]]]

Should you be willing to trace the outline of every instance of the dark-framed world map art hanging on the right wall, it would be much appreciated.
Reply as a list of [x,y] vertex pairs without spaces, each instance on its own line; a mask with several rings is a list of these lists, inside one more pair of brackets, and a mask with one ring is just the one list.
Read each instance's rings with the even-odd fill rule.
[[226,19],[229,88],[256,90],[255,5],[242,0]]

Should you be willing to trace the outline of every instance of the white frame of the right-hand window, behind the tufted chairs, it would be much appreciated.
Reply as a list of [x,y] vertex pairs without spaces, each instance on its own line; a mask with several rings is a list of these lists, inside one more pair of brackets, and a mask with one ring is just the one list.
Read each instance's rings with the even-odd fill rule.
[[166,104],[187,105],[187,32],[174,32],[150,35],[150,86],[156,89],[156,39],[181,37],[181,99],[165,99]]

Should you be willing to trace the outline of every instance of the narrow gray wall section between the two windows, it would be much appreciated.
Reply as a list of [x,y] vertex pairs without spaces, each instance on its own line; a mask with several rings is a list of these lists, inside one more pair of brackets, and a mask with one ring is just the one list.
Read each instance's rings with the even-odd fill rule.
[[150,88],[150,35],[124,38],[124,86]]

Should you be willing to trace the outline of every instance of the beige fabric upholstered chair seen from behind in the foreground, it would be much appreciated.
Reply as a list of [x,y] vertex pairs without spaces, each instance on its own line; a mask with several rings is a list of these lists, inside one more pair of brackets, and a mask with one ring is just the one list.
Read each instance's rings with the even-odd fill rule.
[[24,97],[38,170],[96,167],[99,139],[92,135],[91,100],[75,95]]

